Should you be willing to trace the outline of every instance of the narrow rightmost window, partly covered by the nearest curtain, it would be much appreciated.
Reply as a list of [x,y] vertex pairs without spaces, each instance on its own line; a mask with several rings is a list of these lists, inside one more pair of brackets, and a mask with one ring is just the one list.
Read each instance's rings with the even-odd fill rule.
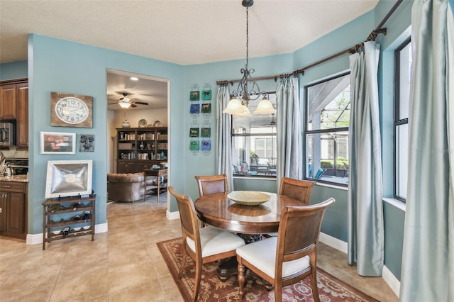
[[405,201],[409,150],[410,39],[397,48],[394,62],[394,198]]

